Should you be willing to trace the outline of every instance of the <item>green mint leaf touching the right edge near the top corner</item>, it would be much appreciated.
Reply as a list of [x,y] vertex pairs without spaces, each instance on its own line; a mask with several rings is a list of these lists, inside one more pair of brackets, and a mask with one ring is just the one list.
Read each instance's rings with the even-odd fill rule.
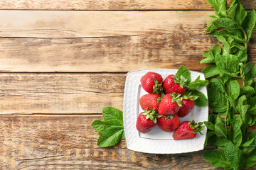
[[245,17],[245,21],[242,23],[242,28],[244,28],[245,33],[247,35],[247,42],[250,40],[252,36],[252,30],[255,27],[256,22],[256,13],[255,10],[252,10],[247,13],[247,16]]

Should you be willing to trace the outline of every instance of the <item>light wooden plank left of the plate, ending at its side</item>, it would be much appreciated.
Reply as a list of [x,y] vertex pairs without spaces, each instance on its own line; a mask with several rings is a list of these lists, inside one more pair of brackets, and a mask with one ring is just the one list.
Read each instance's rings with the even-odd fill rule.
[[0,114],[122,110],[126,74],[0,74]]

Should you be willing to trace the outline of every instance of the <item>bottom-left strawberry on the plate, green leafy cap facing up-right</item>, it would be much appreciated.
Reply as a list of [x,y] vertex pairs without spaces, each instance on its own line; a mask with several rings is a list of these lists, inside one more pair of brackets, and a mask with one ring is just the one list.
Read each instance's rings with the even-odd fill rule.
[[137,118],[136,128],[139,132],[150,132],[156,126],[156,111],[145,111],[139,114]]

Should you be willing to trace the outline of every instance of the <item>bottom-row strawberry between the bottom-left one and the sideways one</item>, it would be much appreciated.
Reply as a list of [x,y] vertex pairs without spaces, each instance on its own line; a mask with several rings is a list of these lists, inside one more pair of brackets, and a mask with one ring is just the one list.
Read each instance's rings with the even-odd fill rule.
[[177,114],[161,115],[160,118],[157,118],[156,124],[161,130],[164,130],[165,132],[172,132],[178,128],[180,120]]

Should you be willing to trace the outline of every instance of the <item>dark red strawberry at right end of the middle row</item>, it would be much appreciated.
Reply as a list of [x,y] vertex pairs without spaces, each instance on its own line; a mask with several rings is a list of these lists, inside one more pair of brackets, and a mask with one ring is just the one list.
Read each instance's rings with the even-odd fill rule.
[[190,96],[190,94],[188,94],[188,96],[183,96],[183,99],[181,100],[182,107],[178,110],[178,116],[183,118],[188,115],[188,113],[191,113],[191,111],[195,107],[194,100],[196,100],[197,98],[198,96]]

